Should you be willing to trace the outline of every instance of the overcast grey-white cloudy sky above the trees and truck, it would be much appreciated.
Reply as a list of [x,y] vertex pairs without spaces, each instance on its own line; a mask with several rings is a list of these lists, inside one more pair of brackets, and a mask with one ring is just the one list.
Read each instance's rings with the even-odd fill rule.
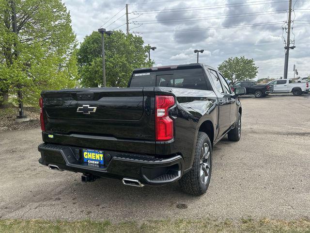
[[[146,4],[146,2],[153,3]],[[65,0],[71,13],[72,26],[78,41],[82,42],[84,36],[97,31],[101,25],[119,12],[125,3],[129,4],[129,21],[143,21],[139,22],[143,23],[142,25],[129,24],[130,31],[141,33],[145,44],[157,47],[155,51],[151,51],[151,58],[155,60],[156,66],[196,62],[196,54],[193,51],[203,49],[204,52],[200,54],[199,59],[200,62],[207,65],[217,67],[229,57],[246,56],[253,58],[256,66],[259,67],[257,79],[267,78],[267,76],[271,78],[283,76],[284,39],[281,25],[287,20],[285,10],[288,9],[288,1]],[[294,3],[293,0],[293,5]],[[203,6],[205,7],[203,8]],[[310,1],[297,0],[294,9],[295,16],[293,14],[292,19],[295,17],[293,26],[295,37],[292,34],[291,39],[295,38],[296,48],[290,50],[289,78],[294,76],[294,64],[300,76],[310,74]],[[132,12],[143,14],[137,15]],[[125,16],[122,17],[124,14],[125,9],[103,27],[112,30],[121,26],[125,23]],[[119,17],[121,18],[118,19]],[[134,17],[137,18],[133,19]],[[118,20],[109,26],[116,19]],[[215,27],[270,22],[276,23],[264,26],[215,29]],[[137,26],[140,27],[133,29]],[[118,29],[125,32],[126,26],[123,25]],[[175,32],[175,30],[188,29],[202,30]],[[174,32],[145,33],[168,30]],[[285,31],[283,35],[286,38]]]

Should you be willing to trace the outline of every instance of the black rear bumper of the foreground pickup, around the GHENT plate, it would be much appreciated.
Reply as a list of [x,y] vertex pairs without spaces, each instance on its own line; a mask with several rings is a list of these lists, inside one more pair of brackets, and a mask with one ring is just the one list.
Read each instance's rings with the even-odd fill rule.
[[62,170],[92,174],[99,177],[115,179],[137,179],[142,184],[163,185],[181,178],[184,172],[184,160],[181,155],[168,158],[105,151],[108,164],[97,166],[81,161],[82,148],[56,144],[40,144],[39,163],[45,166],[54,165]]

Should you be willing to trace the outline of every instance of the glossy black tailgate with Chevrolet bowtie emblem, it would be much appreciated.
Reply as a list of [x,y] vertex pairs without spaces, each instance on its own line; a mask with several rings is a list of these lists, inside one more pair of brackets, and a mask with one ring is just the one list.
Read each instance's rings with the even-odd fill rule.
[[[154,88],[84,88],[41,93],[45,141],[72,146],[155,152]],[[72,137],[78,140],[72,140]],[[57,140],[58,138],[58,140]],[[139,142],[143,143],[138,148]],[[82,144],[82,145],[81,145]],[[128,150],[128,147],[130,150]],[[154,148],[154,149],[153,149]],[[154,150],[154,151],[153,151]]]

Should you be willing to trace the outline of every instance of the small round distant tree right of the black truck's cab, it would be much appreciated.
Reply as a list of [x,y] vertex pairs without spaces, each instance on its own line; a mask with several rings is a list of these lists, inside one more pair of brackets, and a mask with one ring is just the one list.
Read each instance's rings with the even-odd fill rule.
[[232,84],[244,80],[253,80],[258,67],[255,66],[253,59],[247,59],[244,56],[228,58],[218,66],[218,70],[232,82]]

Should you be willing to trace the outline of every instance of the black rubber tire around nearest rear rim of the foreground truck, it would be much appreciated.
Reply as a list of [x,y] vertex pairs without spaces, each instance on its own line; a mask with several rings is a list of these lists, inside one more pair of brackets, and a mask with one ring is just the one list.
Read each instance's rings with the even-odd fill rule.
[[[208,176],[205,177],[206,181],[203,183],[201,178],[201,159],[202,159],[202,147],[205,143],[208,145],[210,151],[209,158],[209,170]],[[182,190],[192,195],[202,195],[208,189],[212,170],[212,146],[211,141],[206,133],[198,132],[196,150],[194,162],[191,170],[183,175],[179,180],[179,184]]]

